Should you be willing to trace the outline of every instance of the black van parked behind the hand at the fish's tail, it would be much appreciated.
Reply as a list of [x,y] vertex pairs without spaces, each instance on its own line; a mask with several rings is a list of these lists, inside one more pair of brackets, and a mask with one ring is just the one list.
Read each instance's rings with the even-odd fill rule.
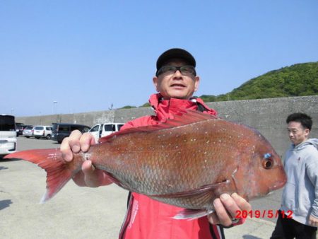
[[65,137],[68,137],[75,129],[86,133],[90,130],[90,127],[84,124],[53,123],[52,140],[61,144],[61,141],[63,141]]

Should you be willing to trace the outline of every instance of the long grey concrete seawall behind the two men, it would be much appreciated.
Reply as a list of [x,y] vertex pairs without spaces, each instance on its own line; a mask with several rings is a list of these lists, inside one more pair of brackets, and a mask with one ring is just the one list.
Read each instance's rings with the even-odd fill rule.
[[[290,98],[269,98],[261,100],[236,100],[207,103],[218,111],[223,119],[241,122],[254,127],[268,139],[278,154],[288,148],[290,141],[285,119],[293,112],[304,112],[314,121],[312,138],[318,138],[318,95]],[[151,107],[124,110],[107,110],[66,115],[42,115],[16,117],[16,122],[24,124],[45,124],[53,122],[86,124],[92,127],[101,122],[127,122],[143,115],[151,115]]]

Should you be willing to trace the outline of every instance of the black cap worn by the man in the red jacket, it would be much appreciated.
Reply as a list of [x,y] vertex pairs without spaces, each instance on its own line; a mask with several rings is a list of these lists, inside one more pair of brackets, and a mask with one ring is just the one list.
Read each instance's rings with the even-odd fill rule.
[[179,58],[184,59],[190,66],[196,67],[196,60],[185,49],[181,48],[172,48],[168,49],[167,51],[163,52],[157,60],[157,71],[167,62],[169,59],[172,58]]

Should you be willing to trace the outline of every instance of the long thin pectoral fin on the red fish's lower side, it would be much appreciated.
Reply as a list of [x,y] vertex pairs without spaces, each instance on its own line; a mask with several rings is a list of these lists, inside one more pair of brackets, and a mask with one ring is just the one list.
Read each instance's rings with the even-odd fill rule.
[[148,195],[149,197],[194,197],[196,195],[203,195],[203,194],[208,194],[213,190],[216,190],[218,187],[222,185],[226,185],[230,183],[230,180],[224,180],[222,182],[217,182],[211,185],[204,185],[202,187],[199,187],[195,190],[189,190],[189,191],[184,191],[184,192],[173,192],[171,194],[160,194],[160,195]]

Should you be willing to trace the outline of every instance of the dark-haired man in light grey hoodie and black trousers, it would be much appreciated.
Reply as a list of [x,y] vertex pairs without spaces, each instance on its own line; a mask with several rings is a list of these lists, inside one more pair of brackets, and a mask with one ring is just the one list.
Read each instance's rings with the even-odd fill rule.
[[318,139],[309,139],[312,118],[293,113],[286,119],[292,142],[285,153],[287,183],[271,238],[316,238],[318,226]]

